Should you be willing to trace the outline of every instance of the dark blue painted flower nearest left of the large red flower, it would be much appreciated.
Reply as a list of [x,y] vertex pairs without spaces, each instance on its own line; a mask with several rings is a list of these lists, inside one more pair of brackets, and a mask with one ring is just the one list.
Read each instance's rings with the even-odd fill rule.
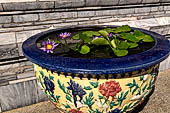
[[68,90],[72,90],[72,95],[73,95],[73,99],[74,99],[74,104],[77,107],[77,97],[80,97],[80,102],[83,99],[83,96],[86,94],[86,92],[83,90],[83,88],[81,87],[81,85],[79,85],[78,83],[75,83],[74,81],[70,80],[70,82],[67,82],[69,84],[69,86],[67,87]]

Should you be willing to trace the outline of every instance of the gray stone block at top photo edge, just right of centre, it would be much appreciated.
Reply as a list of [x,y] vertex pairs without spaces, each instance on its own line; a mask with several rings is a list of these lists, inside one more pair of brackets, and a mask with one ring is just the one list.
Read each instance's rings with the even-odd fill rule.
[[118,5],[119,0],[86,0],[86,6]]

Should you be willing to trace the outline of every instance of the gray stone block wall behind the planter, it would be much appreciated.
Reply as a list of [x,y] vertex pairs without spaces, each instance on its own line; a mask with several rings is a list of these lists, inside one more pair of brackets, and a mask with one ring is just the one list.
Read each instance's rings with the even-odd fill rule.
[[[0,112],[47,100],[21,50],[34,34],[64,26],[128,24],[170,37],[170,0],[14,1],[0,2]],[[160,70],[167,68],[170,58]]]

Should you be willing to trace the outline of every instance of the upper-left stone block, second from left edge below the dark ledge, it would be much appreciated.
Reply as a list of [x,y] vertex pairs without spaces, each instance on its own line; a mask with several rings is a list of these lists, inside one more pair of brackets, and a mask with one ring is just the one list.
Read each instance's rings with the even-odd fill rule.
[[32,22],[38,20],[38,14],[14,15],[13,21],[16,23]]

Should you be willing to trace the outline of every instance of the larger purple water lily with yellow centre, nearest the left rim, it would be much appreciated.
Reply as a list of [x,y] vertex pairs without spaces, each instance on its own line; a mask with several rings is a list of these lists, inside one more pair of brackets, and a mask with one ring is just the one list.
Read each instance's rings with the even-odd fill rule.
[[58,44],[55,44],[54,41],[51,41],[48,39],[48,41],[44,41],[43,42],[43,46],[42,48],[40,48],[41,50],[43,50],[44,52],[47,52],[47,53],[53,53],[53,50],[56,46],[58,46]]

